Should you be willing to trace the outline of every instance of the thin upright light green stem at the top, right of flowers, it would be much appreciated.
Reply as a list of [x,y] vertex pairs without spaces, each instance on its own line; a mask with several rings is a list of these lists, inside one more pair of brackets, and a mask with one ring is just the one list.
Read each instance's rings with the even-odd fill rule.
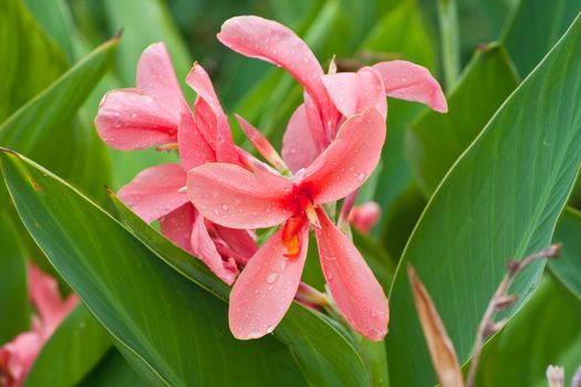
[[456,0],[438,0],[438,19],[446,92],[449,92],[460,72],[460,39]]

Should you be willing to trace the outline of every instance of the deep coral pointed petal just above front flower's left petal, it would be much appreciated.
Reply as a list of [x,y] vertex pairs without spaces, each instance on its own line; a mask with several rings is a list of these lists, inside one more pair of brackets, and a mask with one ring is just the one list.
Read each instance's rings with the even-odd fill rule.
[[205,163],[216,161],[216,153],[199,132],[186,102],[181,104],[177,145],[179,159],[185,170],[190,170]]

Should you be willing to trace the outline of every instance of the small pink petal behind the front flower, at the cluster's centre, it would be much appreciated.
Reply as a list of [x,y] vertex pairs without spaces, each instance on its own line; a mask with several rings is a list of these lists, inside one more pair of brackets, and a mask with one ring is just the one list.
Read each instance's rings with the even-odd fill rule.
[[304,105],[300,105],[290,117],[282,137],[282,159],[290,170],[297,172],[311,165],[318,155]]

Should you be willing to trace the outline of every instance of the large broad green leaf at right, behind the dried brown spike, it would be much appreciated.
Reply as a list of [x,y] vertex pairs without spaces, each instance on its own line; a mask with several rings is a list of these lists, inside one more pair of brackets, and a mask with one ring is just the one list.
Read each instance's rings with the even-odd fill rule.
[[[435,381],[407,262],[432,295],[463,363],[506,261],[550,243],[581,163],[580,44],[578,18],[454,165],[422,215],[391,292],[386,345],[394,386]],[[520,299],[507,317],[530,297],[542,269],[538,261],[519,275],[512,292]]]

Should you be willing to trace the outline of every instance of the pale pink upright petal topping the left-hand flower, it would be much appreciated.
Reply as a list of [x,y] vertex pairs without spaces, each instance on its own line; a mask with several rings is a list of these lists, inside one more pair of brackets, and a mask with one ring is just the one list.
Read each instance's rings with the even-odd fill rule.
[[169,112],[179,113],[184,94],[164,43],[154,43],[142,53],[137,63],[136,87],[152,96]]

